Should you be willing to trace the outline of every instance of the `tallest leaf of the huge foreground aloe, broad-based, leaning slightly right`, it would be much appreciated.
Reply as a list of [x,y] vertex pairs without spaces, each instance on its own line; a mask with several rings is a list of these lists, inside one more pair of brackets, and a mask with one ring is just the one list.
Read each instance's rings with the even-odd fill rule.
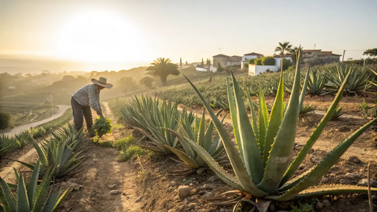
[[289,165],[292,151],[294,149],[294,140],[296,137],[296,124],[298,120],[298,100],[300,96],[300,60],[296,64],[296,73],[294,77],[294,86],[289,98],[288,107],[282,119],[282,124],[277,132],[277,136],[272,144],[271,152],[265,167],[265,175],[262,182],[258,184],[265,192],[274,194],[277,192],[280,181],[286,168]]

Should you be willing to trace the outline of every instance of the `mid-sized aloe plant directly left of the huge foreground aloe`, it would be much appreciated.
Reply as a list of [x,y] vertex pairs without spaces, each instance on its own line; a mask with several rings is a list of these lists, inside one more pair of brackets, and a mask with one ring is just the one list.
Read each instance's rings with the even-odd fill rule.
[[200,122],[198,117],[195,117],[194,126],[192,126],[191,120],[183,115],[180,119],[179,133],[169,130],[178,136],[178,140],[182,144],[184,152],[170,146],[166,146],[166,148],[169,148],[170,151],[175,153],[175,155],[189,167],[207,167],[207,163],[190,147],[189,142],[197,143],[197,145],[204,148],[215,160],[223,155],[224,146],[221,143],[219,135],[214,134],[214,123],[210,122],[207,129],[205,125],[204,111]]

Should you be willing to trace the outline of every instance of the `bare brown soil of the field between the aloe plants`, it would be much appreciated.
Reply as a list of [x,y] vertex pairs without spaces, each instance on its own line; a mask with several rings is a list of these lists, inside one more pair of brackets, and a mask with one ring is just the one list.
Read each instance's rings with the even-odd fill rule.
[[[242,78],[245,78],[245,76],[240,74],[238,78],[242,82]],[[211,83],[217,84],[218,81],[225,82],[224,78],[214,78],[211,81],[207,79],[197,81],[195,84],[203,86],[202,91],[205,92],[206,87],[211,87]],[[247,84],[246,81],[243,85]],[[161,96],[161,92],[158,93],[159,91],[146,94],[146,96],[154,97],[157,95],[160,98],[160,104],[163,105],[165,98],[174,100],[175,96],[175,98],[184,100],[179,94],[172,95],[169,89],[186,89],[185,87],[187,86],[162,88],[163,94],[171,95],[169,98]],[[214,90],[217,88],[219,92],[226,89],[226,87],[223,90],[217,86],[212,87]],[[272,90],[273,93],[274,89],[269,90]],[[219,96],[221,95],[223,94],[219,93]],[[189,93],[185,93],[185,97],[189,96]],[[288,102],[289,96],[286,91],[284,102]],[[334,98],[335,94],[306,95],[304,105],[312,105],[315,111],[301,117],[297,124],[294,155],[297,155],[298,151],[303,148]],[[140,153],[135,153],[136,158],[121,161],[122,151],[116,148],[117,141],[133,136],[134,145],[143,147],[150,139],[143,138],[139,131],[125,124],[124,117],[122,117],[122,107],[134,101],[134,99],[116,98],[110,100],[110,102],[103,102],[103,107],[106,109],[105,115],[113,121],[112,132],[97,140],[84,136],[83,141],[78,146],[78,151],[81,151],[80,154],[84,158],[82,163],[76,167],[71,175],[57,179],[53,185],[53,187],[60,187],[63,190],[71,190],[59,211],[232,211],[234,203],[224,203],[224,201],[232,199],[231,196],[221,196],[221,198],[216,196],[233,190],[233,188],[224,183],[208,167],[190,169],[182,162],[179,163],[180,158],[176,155],[161,155],[145,149]],[[253,102],[259,101],[258,97],[254,95],[251,99]],[[219,99],[213,98],[212,100],[216,111],[223,108],[224,104],[215,104],[216,100]],[[370,122],[373,115],[363,112],[359,105],[364,102],[364,104],[373,106],[375,100],[376,95],[371,93],[344,96],[339,103],[344,114],[328,122],[318,141],[306,155],[293,177],[303,174],[320,163],[339,143],[347,139],[359,127]],[[226,99],[223,98],[221,101],[224,103]],[[178,110],[191,111],[197,117],[202,117],[203,106],[198,104],[196,100],[187,102],[178,100],[177,102],[179,102]],[[265,102],[267,102],[267,108],[270,110],[274,96],[267,95]],[[172,112],[172,114],[174,113]],[[226,114],[226,110],[221,112],[219,116],[222,118],[224,115],[226,117],[223,124],[231,129],[231,118],[229,114]],[[95,112],[93,112],[93,117],[96,117]],[[206,117],[209,118],[208,114],[206,114]],[[42,139],[37,140],[37,142],[41,141]],[[376,142],[377,126],[373,124],[356,139],[329,172],[314,185],[361,184],[362,179],[367,177],[369,164],[371,178],[377,179]],[[30,153],[32,150],[33,145],[28,143],[17,151],[2,155],[1,175],[4,175],[1,172],[4,171],[4,167],[11,166],[12,160],[10,158],[20,159],[28,163],[34,162],[37,159],[37,153]],[[28,155],[28,157],[25,158],[25,155]],[[228,172],[233,172],[228,162],[224,163],[224,168]],[[30,170],[26,167],[18,166],[18,171],[26,177],[30,176]],[[14,182],[14,178],[7,177],[6,181]],[[178,190],[181,186],[189,188],[189,196],[180,198]],[[376,187],[376,185],[373,186]],[[373,203],[376,204],[376,197],[373,198]],[[326,195],[300,201],[273,201],[269,206],[269,211],[290,211],[294,209],[294,206],[312,207],[316,208],[316,211],[367,211],[369,201],[366,194]]]

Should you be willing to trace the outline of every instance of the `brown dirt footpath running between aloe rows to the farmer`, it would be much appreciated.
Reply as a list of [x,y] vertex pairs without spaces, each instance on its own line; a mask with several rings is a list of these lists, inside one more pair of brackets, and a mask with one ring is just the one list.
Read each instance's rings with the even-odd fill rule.
[[[103,102],[104,114],[113,119],[108,102]],[[120,138],[119,129],[113,129],[100,139],[115,141]],[[60,211],[142,211],[137,191],[138,164],[119,162],[119,151],[98,146],[92,141],[83,143],[86,160],[77,168],[80,172],[67,179],[74,190]],[[113,194],[116,193],[116,194]]]

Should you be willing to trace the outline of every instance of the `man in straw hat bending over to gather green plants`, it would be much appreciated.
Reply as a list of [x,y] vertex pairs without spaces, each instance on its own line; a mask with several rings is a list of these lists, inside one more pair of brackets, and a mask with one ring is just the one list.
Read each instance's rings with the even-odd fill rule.
[[83,127],[83,117],[86,122],[86,129],[90,136],[94,136],[91,128],[93,126],[91,107],[99,116],[103,116],[100,107],[100,90],[112,88],[112,84],[107,83],[106,78],[100,77],[98,80],[92,78],[93,83],[83,86],[72,95],[71,107],[74,114],[74,128],[79,131]]

